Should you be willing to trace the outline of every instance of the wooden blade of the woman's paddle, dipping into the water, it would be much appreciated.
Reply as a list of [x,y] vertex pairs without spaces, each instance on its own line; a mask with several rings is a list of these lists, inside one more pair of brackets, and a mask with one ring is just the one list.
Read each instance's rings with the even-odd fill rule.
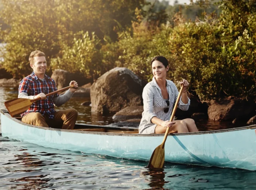
[[153,154],[151,155],[148,168],[163,168],[164,166],[164,146],[160,144],[154,150]]

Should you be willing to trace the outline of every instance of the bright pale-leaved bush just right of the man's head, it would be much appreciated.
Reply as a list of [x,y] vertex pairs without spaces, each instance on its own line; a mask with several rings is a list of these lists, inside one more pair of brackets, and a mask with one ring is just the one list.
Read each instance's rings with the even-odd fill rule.
[[[61,52],[57,58],[52,58],[52,69],[64,69],[71,73],[83,73],[88,78],[95,78],[103,70],[99,62],[99,50],[96,49],[100,40],[94,33],[90,38],[89,33],[78,32],[74,35],[72,46],[61,44]],[[106,72],[106,69],[103,70]]]

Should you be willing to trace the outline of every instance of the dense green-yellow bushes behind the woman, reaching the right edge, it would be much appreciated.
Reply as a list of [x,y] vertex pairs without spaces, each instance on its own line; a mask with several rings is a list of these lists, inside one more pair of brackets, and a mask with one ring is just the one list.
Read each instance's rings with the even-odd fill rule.
[[[128,67],[141,78],[151,80],[150,60],[164,55],[170,62],[170,79],[190,82],[204,100],[226,96],[256,95],[255,33],[256,11],[251,1],[223,0],[220,17],[204,14],[204,19],[186,21],[174,15],[174,27],[160,28],[147,23],[136,25],[133,36],[122,35],[108,50],[117,66]],[[242,14],[243,12],[243,14]],[[144,30],[141,29],[144,26]]]

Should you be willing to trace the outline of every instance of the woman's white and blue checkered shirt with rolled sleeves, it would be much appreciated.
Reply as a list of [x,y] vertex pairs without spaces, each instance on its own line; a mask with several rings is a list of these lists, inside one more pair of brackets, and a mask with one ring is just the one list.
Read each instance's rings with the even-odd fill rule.
[[[163,121],[170,120],[171,112],[173,111],[173,107],[175,101],[177,100],[179,92],[177,87],[171,80],[166,80],[166,82],[167,92],[169,94],[170,101],[169,111],[167,113],[164,112],[164,109],[167,108],[167,103],[162,96],[161,89],[157,85],[156,79],[153,77],[152,81],[147,83],[147,85],[144,87],[142,93],[144,111],[142,113],[142,119],[140,121],[139,133],[150,134],[155,132],[155,128],[157,125],[151,123],[151,119],[154,116]],[[189,98],[187,104],[184,104],[180,99],[178,107],[181,110],[187,111],[189,105]]]

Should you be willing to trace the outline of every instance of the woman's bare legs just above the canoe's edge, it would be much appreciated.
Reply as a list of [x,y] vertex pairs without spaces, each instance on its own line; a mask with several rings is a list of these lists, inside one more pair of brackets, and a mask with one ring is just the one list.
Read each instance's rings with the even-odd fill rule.
[[[170,127],[169,133],[188,133],[189,130],[187,128],[186,123],[183,120],[174,120],[175,124]],[[155,128],[155,133],[156,134],[162,134],[165,133],[167,128],[157,125]]]

